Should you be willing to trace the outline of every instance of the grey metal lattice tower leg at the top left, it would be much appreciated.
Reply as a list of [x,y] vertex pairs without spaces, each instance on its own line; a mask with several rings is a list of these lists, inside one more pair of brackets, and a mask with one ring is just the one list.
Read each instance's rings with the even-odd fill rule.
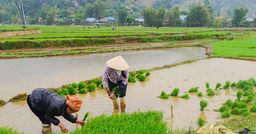
[[23,11],[22,1],[19,0],[19,2],[18,2],[17,0],[15,0],[16,6],[13,6],[12,3],[10,2],[10,0],[8,0],[8,1],[11,4],[12,8],[14,9],[14,11],[16,12],[16,14],[18,15],[18,17],[20,18],[20,20],[22,21],[23,28],[28,28],[29,26],[28,26],[28,24],[26,23],[26,20],[25,20],[25,15],[24,15],[24,11]]

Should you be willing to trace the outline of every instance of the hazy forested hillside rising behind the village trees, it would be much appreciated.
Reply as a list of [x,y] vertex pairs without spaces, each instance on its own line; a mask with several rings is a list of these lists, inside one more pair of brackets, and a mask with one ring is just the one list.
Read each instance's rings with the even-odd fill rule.
[[[14,0],[12,0],[14,1]],[[19,1],[19,0],[18,0]],[[43,10],[57,5],[59,11],[70,11],[70,14],[76,14],[79,9],[85,9],[87,3],[94,3],[96,0],[22,0],[25,15],[33,17],[40,16]],[[108,3],[105,11],[105,17],[116,17],[116,12],[120,9],[128,11],[128,16],[134,18],[142,18],[144,8],[153,6],[154,9],[159,9],[162,6],[166,10],[170,10],[174,6],[180,6],[181,11],[189,11],[189,5],[198,3],[199,0],[101,0]],[[201,0],[203,5],[204,0]],[[226,17],[227,11],[233,13],[234,8],[244,6],[249,12],[246,17],[256,17],[256,0],[209,0],[214,13]],[[42,9],[44,7],[44,9]],[[3,10],[2,10],[3,9]],[[6,11],[15,14],[7,0],[0,0],[0,22],[3,22],[10,15]],[[232,14],[231,14],[232,16]]]

